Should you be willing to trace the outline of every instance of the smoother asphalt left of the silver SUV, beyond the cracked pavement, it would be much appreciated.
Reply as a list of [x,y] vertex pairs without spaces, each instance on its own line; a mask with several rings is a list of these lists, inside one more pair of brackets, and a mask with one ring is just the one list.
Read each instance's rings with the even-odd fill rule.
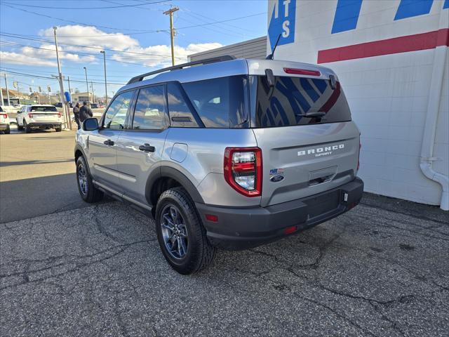
[[75,131],[0,134],[0,223],[88,206],[76,186]]

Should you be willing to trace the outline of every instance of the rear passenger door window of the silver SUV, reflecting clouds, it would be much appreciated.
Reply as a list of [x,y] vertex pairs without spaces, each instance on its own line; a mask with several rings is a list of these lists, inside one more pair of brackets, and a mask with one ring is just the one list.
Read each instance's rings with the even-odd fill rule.
[[135,104],[133,130],[162,130],[165,126],[163,86],[140,89]]

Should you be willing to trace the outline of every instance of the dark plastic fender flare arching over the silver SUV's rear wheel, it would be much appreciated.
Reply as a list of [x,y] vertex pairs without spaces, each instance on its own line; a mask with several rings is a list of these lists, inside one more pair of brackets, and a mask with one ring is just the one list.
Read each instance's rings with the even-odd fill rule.
[[195,185],[192,183],[192,181],[189,180],[189,178],[185,176],[184,173],[178,171],[177,169],[173,169],[173,167],[170,166],[159,166],[158,169],[155,169],[152,173],[150,173],[147,179],[147,186],[145,188],[145,197],[147,198],[147,201],[149,202],[150,205],[151,205],[151,198],[150,198],[151,191],[154,183],[156,183],[156,180],[158,180],[159,178],[172,178],[176,180],[178,183],[182,185],[182,187],[185,188],[185,190],[187,190],[187,193],[189,193],[190,197],[194,202],[204,204],[204,200],[201,197],[201,194],[199,194]]

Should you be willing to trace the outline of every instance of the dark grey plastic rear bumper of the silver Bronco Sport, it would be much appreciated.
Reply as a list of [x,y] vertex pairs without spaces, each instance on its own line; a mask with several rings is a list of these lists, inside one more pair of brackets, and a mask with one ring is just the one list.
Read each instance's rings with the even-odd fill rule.
[[[268,207],[228,208],[196,203],[196,208],[211,244],[239,250],[286,237],[287,227],[295,226],[290,230],[297,233],[335,218],[354,208],[362,194],[363,181],[355,178],[333,190]],[[217,216],[218,221],[206,220],[206,214]]]

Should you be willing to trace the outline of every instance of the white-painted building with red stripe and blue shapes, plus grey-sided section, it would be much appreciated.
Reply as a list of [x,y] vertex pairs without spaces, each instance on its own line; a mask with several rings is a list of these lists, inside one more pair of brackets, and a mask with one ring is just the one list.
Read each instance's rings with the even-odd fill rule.
[[[448,210],[448,27],[449,0],[269,0],[261,56],[281,35],[275,59],[335,70],[361,131],[366,191]],[[246,55],[234,46],[250,41],[191,59]]]

